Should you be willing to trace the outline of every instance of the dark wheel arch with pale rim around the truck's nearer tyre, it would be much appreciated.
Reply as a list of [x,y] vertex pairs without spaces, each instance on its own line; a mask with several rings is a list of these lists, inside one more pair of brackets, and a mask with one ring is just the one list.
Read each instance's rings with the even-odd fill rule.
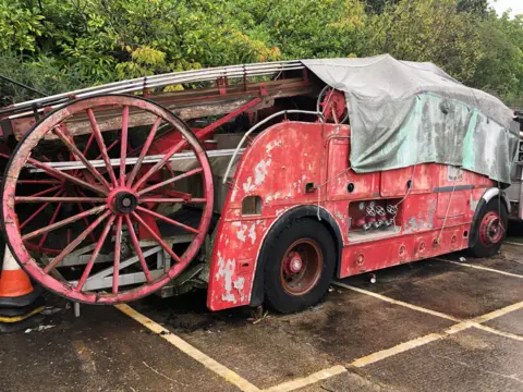
[[299,206],[294,207],[284,213],[282,213],[278,219],[272,222],[270,229],[267,231],[267,234],[264,237],[263,244],[259,248],[258,255],[256,257],[256,269],[254,271],[254,283],[251,292],[251,306],[259,306],[264,303],[264,269],[265,269],[265,255],[269,250],[270,238],[279,233],[290,221],[309,218],[318,220],[319,222],[329,231],[332,235],[332,240],[336,244],[336,273],[339,275],[339,269],[341,267],[341,252],[343,247],[343,237],[341,235],[340,228],[335,217],[326,210],[324,207],[318,206]]

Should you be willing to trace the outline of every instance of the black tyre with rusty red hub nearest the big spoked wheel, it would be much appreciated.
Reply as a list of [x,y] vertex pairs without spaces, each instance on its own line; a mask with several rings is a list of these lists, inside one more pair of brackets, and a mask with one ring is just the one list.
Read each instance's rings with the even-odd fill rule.
[[319,302],[327,293],[336,267],[335,242],[313,219],[294,220],[268,238],[265,297],[270,307],[292,313]]

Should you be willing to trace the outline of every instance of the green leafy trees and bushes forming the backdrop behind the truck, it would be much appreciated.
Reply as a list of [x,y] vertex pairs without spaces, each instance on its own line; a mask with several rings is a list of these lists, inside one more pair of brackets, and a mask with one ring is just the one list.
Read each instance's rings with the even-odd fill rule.
[[[382,52],[431,61],[523,106],[523,16],[497,15],[487,0],[0,2],[0,73],[48,94],[203,66]],[[31,97],[0,82],[1,105]]]

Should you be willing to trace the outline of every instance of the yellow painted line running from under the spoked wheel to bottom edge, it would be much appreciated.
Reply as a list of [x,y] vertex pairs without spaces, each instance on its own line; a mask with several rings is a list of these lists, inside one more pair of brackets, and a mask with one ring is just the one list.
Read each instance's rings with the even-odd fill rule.
[[132,319],[136,320],[139,322],[142,326],[147,328],[148,330],[159,334],[160,338],[165,339],[169,343],[171,343],[174,347],[180,350],[181,352],[185,353],[193,359],[197,360],[202,365],[204,365],[206,368],[209,370],[212,370],[217,375],[221,376],[223,379],[226,379],[228,382],[236,385],[240,390],[244,392],[259,392],[260,390],[232,371],[231,369],[224,367],[223,365],[219,364],[208,355],[204,354],[196,347],[193,347],[191,344],[185,342],[183,339],[177,336],[174,333],[169,331],[167,328],[160,326],[159,323],[153,321],[148,317],[137,313],[134,310],[132,307],[129,305],[115,305],[114,306],[117,309],[120,311],[124,313]]

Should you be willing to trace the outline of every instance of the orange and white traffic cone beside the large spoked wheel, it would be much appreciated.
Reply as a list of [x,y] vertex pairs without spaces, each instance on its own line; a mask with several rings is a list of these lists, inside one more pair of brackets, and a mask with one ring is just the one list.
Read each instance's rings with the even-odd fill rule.
[[41,290],[35,289],[5,246],[0,274],[0,333],[14,332],[41,321]]

